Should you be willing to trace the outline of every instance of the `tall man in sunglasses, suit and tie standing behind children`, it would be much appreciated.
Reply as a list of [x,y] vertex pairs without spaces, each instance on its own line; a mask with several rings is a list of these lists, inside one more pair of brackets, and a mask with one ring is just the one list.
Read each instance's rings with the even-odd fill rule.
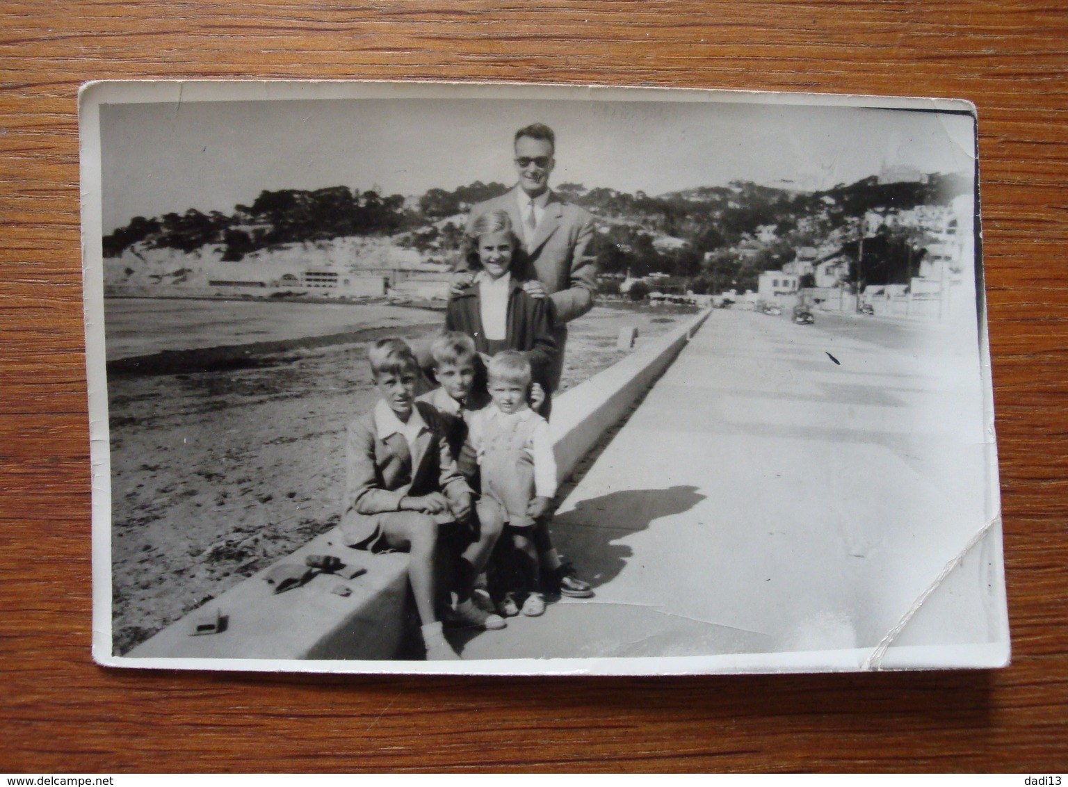
[[[554,306],[552,336],[556,356],[547,376],[551,392],[560,387],[564,371],[567,324],[594,308],[597,293],[594,217],[578,205],[564,202],[549,188],[549,175],[556,166],[556,135],[551,128],[544,123],[524,126],[516,131],[513,145],[519,182],[507,193],[472,207],[465,236],[470,238],[474,222],[490,210],[505,210],[512,218],[525,257],[523,289],[534,298],[550,298]],[[462,250],[461,266],[466,265],[468,251]],[[472,281],[470,272],[458,272],[453,294],[462,292]],[[545,520],[535,528],[534,541],[548,585],[546,591],[572,598],[594,595],[575,568],[561,561]]]

